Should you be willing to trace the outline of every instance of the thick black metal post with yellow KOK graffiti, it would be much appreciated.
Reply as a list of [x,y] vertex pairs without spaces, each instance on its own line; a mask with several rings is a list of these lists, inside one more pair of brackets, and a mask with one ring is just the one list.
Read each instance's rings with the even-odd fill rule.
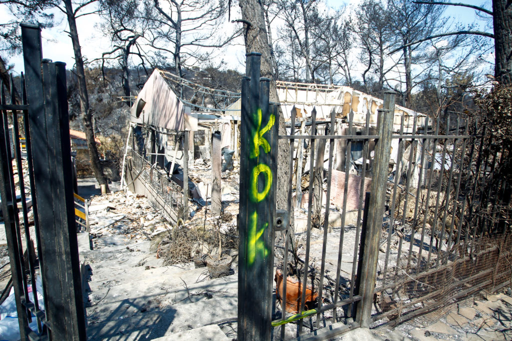
[[240,174],[248,176],[240,177],[239,340],[271,334],[279,121],[269,110],[269,79],[260,81],[260,59],[260,53],[247,55],[250,81],[242,81]]

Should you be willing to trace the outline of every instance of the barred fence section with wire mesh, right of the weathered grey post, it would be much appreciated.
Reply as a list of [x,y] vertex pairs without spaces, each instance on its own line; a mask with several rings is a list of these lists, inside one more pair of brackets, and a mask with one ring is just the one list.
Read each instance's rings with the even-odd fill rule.
[[437,320],[472,294],[511,284],[510,191],[495,171],[508,151],[493,146],[476,122],[450,118],[393,136],[398,157],[372,310],[379,333]]

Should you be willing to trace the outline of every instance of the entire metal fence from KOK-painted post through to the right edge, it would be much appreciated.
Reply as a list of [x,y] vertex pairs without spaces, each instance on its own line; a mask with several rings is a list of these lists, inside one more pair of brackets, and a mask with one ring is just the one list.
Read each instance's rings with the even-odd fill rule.
[[[512,191],[496,175],[509,146],[462,112],[400,115],[390,92],[377,115],[293,107],[278,135],[260,55],[247,65],[239,339],[386,332],[509,285]],[[287,184],[276,180],[279,140],[289,142]],[[276,190],[287,207],[276,209]]]

